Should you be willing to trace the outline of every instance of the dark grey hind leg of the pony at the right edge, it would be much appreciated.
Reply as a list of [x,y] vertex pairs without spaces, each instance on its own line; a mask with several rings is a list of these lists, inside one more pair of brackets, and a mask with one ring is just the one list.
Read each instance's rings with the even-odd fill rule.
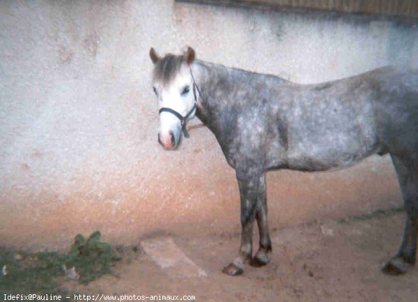
[[396,255],[382,267],[382,271],[389,275],[400,275],[415,264],[417,252],[418,161],[407,161],[393,154],[391,156],[405,204],[406,221],[401,246]]

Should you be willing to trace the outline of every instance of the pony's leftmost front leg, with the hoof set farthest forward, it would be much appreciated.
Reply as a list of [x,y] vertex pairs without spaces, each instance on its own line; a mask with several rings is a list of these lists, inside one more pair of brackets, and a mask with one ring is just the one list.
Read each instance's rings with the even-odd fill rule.
[[241,200],[241,246],[238,257],[231,264],[222,269],[228,275],[240,275],[245,270],[245,264],[251,262],[252,256],[252,233],[256,218],[256,206],[258,197],[258,183],[260,176],[254,173],[240,173],[237,171],[237,181],[240,187]]

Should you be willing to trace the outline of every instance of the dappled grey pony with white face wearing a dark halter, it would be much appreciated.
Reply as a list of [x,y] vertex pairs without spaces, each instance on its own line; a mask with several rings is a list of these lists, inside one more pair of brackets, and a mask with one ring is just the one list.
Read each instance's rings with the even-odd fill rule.
[[[263,266],[272,251],[265,173],[325,171],[378,153],[392,157],[405,203],[401,246],[382,271],[415,264],[418,216],[418,70],[385,67],[323,84],[295,84],[185,54],[157,55],[153,89],[160,107],[158,141],[176,149],[194,115],[214,133],[240,188],[242,236],[238,256],[223,271]],[[260,234],[252,256],[252,230]]]

